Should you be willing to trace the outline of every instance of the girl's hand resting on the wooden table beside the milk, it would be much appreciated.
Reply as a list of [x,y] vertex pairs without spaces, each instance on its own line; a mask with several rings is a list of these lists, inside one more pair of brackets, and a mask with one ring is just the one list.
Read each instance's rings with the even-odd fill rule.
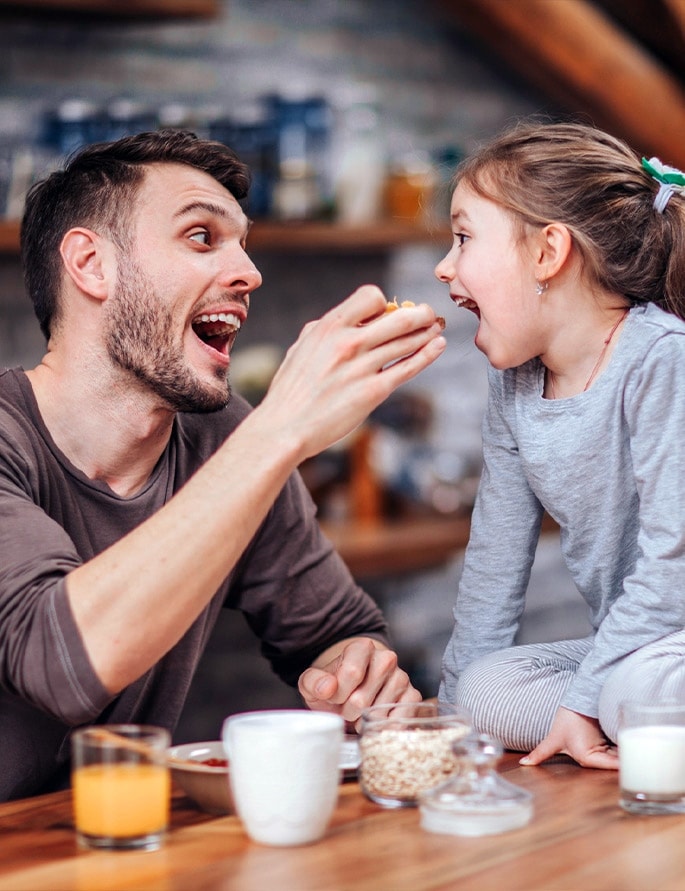
[[561,707],[547,736],[519,763],[537,765],[560,753],[569,755],[581,767],[618,770],[616,747],[607,742],[599,721]]

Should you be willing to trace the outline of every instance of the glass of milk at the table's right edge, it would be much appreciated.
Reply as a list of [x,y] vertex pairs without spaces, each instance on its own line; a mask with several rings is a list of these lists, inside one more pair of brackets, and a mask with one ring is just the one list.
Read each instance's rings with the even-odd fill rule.
[[622,703],[618,758],[624,810],[685,813],[685,704]]

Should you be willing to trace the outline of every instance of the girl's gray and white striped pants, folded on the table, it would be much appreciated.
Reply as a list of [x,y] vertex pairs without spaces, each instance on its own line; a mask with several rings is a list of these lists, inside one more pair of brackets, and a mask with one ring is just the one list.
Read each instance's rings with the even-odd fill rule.
[[[592,638],[524,644],[477,659],[462,672],[456,704],[468,709],[474,728],[507,749],[530,752],[552,721]],[[685,631],[626,656],[611,672],[599,699],[599,723],[616,742],[623,700],[685,703]]]

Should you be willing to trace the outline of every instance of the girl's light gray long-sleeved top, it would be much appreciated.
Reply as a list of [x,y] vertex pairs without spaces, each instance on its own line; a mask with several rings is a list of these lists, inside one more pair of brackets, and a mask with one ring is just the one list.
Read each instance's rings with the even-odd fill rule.
[[544,399],[539,359],[489,370],[484,470],[440,698],[514,641],[543,510],[590,608],[594,642],[562,705],[597,717],[609,672],[685,627],[685,323],[630,311],[592,387]]

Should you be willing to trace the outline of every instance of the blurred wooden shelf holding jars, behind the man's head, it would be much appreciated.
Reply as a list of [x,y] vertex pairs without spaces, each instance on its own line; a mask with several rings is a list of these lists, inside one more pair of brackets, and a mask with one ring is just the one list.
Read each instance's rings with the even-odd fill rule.
[[[447,228],[393,220],[361,227],[258,221],[250,230],[249,246],[253,251],[269,252],[363,253],[421,243],[447,249],[449,239]],[[19,253],[19,223],[15,220],[0,220],[0,253]]]

